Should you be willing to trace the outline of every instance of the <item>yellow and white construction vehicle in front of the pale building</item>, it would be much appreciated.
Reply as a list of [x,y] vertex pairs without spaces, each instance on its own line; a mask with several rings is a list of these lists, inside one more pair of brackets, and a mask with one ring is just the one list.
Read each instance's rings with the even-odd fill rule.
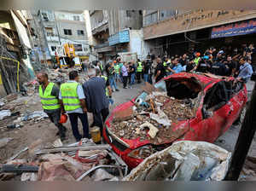
[[73,43],[58,45],[55,49],[55,58],[60,68],[81,67],[79,56],[75,54]]

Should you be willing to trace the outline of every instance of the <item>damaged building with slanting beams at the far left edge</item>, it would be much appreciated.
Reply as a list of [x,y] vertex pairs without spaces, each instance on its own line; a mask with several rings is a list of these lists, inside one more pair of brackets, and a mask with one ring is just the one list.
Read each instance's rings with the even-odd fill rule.
[[0,96],[22,89],[34,77],[30,60],[31,42],[21,11],[0,11]]

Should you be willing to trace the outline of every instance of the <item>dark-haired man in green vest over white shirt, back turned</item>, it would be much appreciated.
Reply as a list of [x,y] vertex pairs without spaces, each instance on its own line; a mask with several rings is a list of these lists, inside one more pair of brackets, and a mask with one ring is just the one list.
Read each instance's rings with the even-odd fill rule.
[[[81,138],[89,138],[89,124],[87,118],[87,108],[85,104],[85,96],[82,85],[79,84],[79,73],[77,71],[69,72],[69,81],[61,84],[59,99],[61,100],[61,107],[67,112],[73,136],[79,142]],[[83,125],[84,135],[79,133],[78,119]]]

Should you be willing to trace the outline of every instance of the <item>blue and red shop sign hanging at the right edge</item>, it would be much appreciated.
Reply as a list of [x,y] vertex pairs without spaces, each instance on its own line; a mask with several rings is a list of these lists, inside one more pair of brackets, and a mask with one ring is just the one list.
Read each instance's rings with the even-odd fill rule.
[[256,19],[212,28],[211,38],[226,38],[256,32]]

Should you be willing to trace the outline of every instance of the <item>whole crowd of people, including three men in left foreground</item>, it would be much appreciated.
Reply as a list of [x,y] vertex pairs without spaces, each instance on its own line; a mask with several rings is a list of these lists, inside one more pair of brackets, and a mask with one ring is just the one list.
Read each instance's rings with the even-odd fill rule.
[[[153,84],[178,72],[211,72],[219,76],[232,76],[246,83],[253,74],[251,63],[254,52],[253,44],[243,44],[240,49],[229,47],[217,50],[211,47],[203,54],[189,51],[182,56],[158,56],[155,61],[150,56],[137,62],[124,62],[117,57],[104,67],[96,61],[93,68],[83,68],[89,77],[84,84],[79,84],[79,72],[69,72],[69,81],[61,84],[61,87],[49,82],[46,72],[39,72],[39,96],[44,112],[58,128],[57,135],[61,140],[66,138],[67,131],[60,123],[61,113],[67,113],[73,136],[79,141],[83,137],[90,138],[87,112],[93,113],[90,126],[98,126],[102,132],[109,114],[109,104],[113,104],[112,92],[119,91],[119,83],[127,89],[136,83],[141,84],[142,79]],[[83,135],[79,133],[78,119],[83,125]]]

